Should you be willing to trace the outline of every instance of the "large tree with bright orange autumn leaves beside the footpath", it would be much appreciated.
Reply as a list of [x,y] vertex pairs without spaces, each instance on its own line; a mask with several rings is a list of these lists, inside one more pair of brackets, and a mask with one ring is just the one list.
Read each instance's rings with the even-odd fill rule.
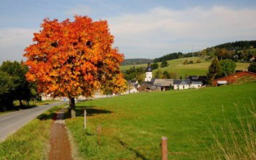
[[34,33],[35,43],[24,50],[30,68],[26,78],[37,82],[39,92],[68,97],[72,117],[74,98],[126,89],[119,69],[124,56],[112,47],[114,36],[107,21],[92,21],[88,16],[62,22],[46,18],[41,27]]

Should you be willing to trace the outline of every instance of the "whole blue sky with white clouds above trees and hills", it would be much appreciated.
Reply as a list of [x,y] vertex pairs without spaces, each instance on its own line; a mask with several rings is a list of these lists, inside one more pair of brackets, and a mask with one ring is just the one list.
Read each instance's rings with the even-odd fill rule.
[[125,58],[157,58],[172,52],[256,40],[256,0],[1,0],[0,63],[25,60],[44,18],[90,16],[107,20]]

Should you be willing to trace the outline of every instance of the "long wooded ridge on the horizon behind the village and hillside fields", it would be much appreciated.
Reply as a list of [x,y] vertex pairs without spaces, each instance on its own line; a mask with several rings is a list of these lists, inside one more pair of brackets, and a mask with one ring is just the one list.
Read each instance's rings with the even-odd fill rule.
[[124,62],[122,62],[122,66],[146,64],[148,62],[162,62],[166,60],[174,60],[178,58],[187,58],[192,56],[210,56],[210,58],[212,58],[213,56],[217,56],[219,59],[230,58],[236,61],[242,60],[243,62],[247,62],[250,60],[250,58],[256,56],[256,40],[228,42],[213,47],[208,47],[204,50],[193,53],[170,53],[159,58],[155,58],[154,60],[148,60],[146,58],[125,59]]

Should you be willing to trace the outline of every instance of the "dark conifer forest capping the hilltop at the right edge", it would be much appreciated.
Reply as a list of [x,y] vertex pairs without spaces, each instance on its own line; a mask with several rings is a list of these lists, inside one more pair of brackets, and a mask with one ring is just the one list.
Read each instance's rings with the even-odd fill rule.
[[256,40],[228,42],[214,46],[214,48],[226,48],[227,50],[243,50],[248,48],[256,48]]

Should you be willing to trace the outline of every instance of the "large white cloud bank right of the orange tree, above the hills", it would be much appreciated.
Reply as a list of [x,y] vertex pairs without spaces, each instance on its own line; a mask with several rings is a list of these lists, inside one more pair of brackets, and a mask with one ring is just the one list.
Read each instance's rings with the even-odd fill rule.
[[[116,46],[126,58],[158,57],[235,40],[256,39],[256,10],[223,6],[187,10],[153,8],[107,18]],[[160,55],[159,55],[160,54]]]

